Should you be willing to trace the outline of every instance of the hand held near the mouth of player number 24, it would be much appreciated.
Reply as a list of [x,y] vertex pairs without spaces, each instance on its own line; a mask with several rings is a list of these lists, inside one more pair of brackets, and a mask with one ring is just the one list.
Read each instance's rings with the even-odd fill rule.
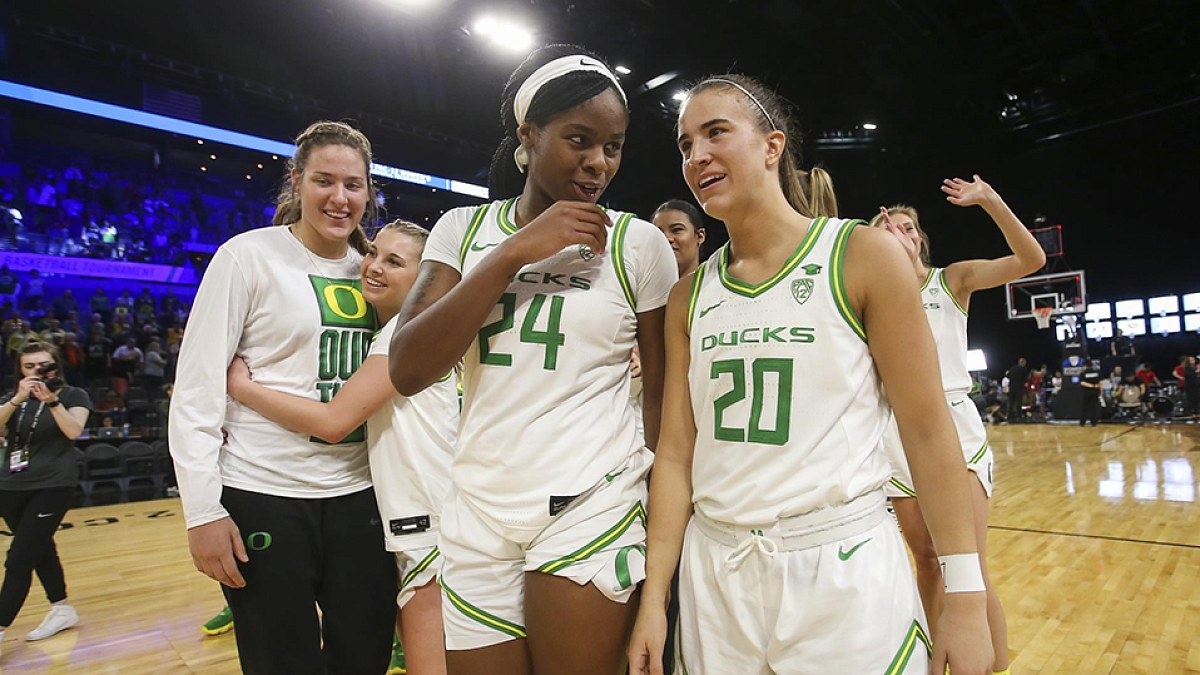
[[604,252],[610,227],[608,214],[595,204],[556,202],[510,237],[505,246],[521,264],[544,261],[571,245],[581,249],[584,259],[592,259]]

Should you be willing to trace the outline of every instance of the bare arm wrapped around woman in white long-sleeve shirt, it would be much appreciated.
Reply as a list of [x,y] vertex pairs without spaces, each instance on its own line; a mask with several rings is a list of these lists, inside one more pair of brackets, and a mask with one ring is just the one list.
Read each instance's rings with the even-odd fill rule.
[[276,392],[251,378],[250,366],[234,357],[226,376],[229,395],[280,426],[337,443],[396,395],[388,378],[388,358],[368,357],[337,395],[323,404]]

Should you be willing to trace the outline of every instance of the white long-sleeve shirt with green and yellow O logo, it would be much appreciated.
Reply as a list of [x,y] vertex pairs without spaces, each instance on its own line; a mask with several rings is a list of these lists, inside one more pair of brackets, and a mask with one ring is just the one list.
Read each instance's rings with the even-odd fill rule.
[[229,399],[236,354],[254,382],[329,401],[366,358],[376,327],[353,250],[322,258],[287,227],[223,244],[187,322],[170,404],[170,454],[184,515],[196,527],[228,515],[222,488],[320,498],[371,486],[365,434],[328,444]]

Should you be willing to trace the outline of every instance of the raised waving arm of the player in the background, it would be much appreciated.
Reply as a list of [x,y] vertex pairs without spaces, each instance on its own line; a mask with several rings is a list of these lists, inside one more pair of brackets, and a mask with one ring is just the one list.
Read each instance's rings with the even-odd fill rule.
[[954,205],[983,207],[1004,234],[1004,241],[1013,252],[992,261],[962,261],[946,268],[946,281],[950,285],[950,292],[964,307],[967,306],[971,293],[1003,286],[1033,274],[1046,264],[1045,251],[1038,240],[1030,234],[1000,193],[979,178],[979,174],[976,174],[973,180],[947,178],[942,181],[942,192],[946,192],[946,201]]

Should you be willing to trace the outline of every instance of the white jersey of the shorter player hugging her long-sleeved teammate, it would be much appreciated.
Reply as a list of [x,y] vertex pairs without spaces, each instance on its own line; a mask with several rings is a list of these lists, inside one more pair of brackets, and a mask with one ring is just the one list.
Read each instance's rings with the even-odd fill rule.
[[[398,318],[376,335],[367,358],[388,358]],[[454,371],[414,396],[396,394],[367,420],[371,479],[389,551],[437,545],[436,519],[450,494],[457,429]]]

